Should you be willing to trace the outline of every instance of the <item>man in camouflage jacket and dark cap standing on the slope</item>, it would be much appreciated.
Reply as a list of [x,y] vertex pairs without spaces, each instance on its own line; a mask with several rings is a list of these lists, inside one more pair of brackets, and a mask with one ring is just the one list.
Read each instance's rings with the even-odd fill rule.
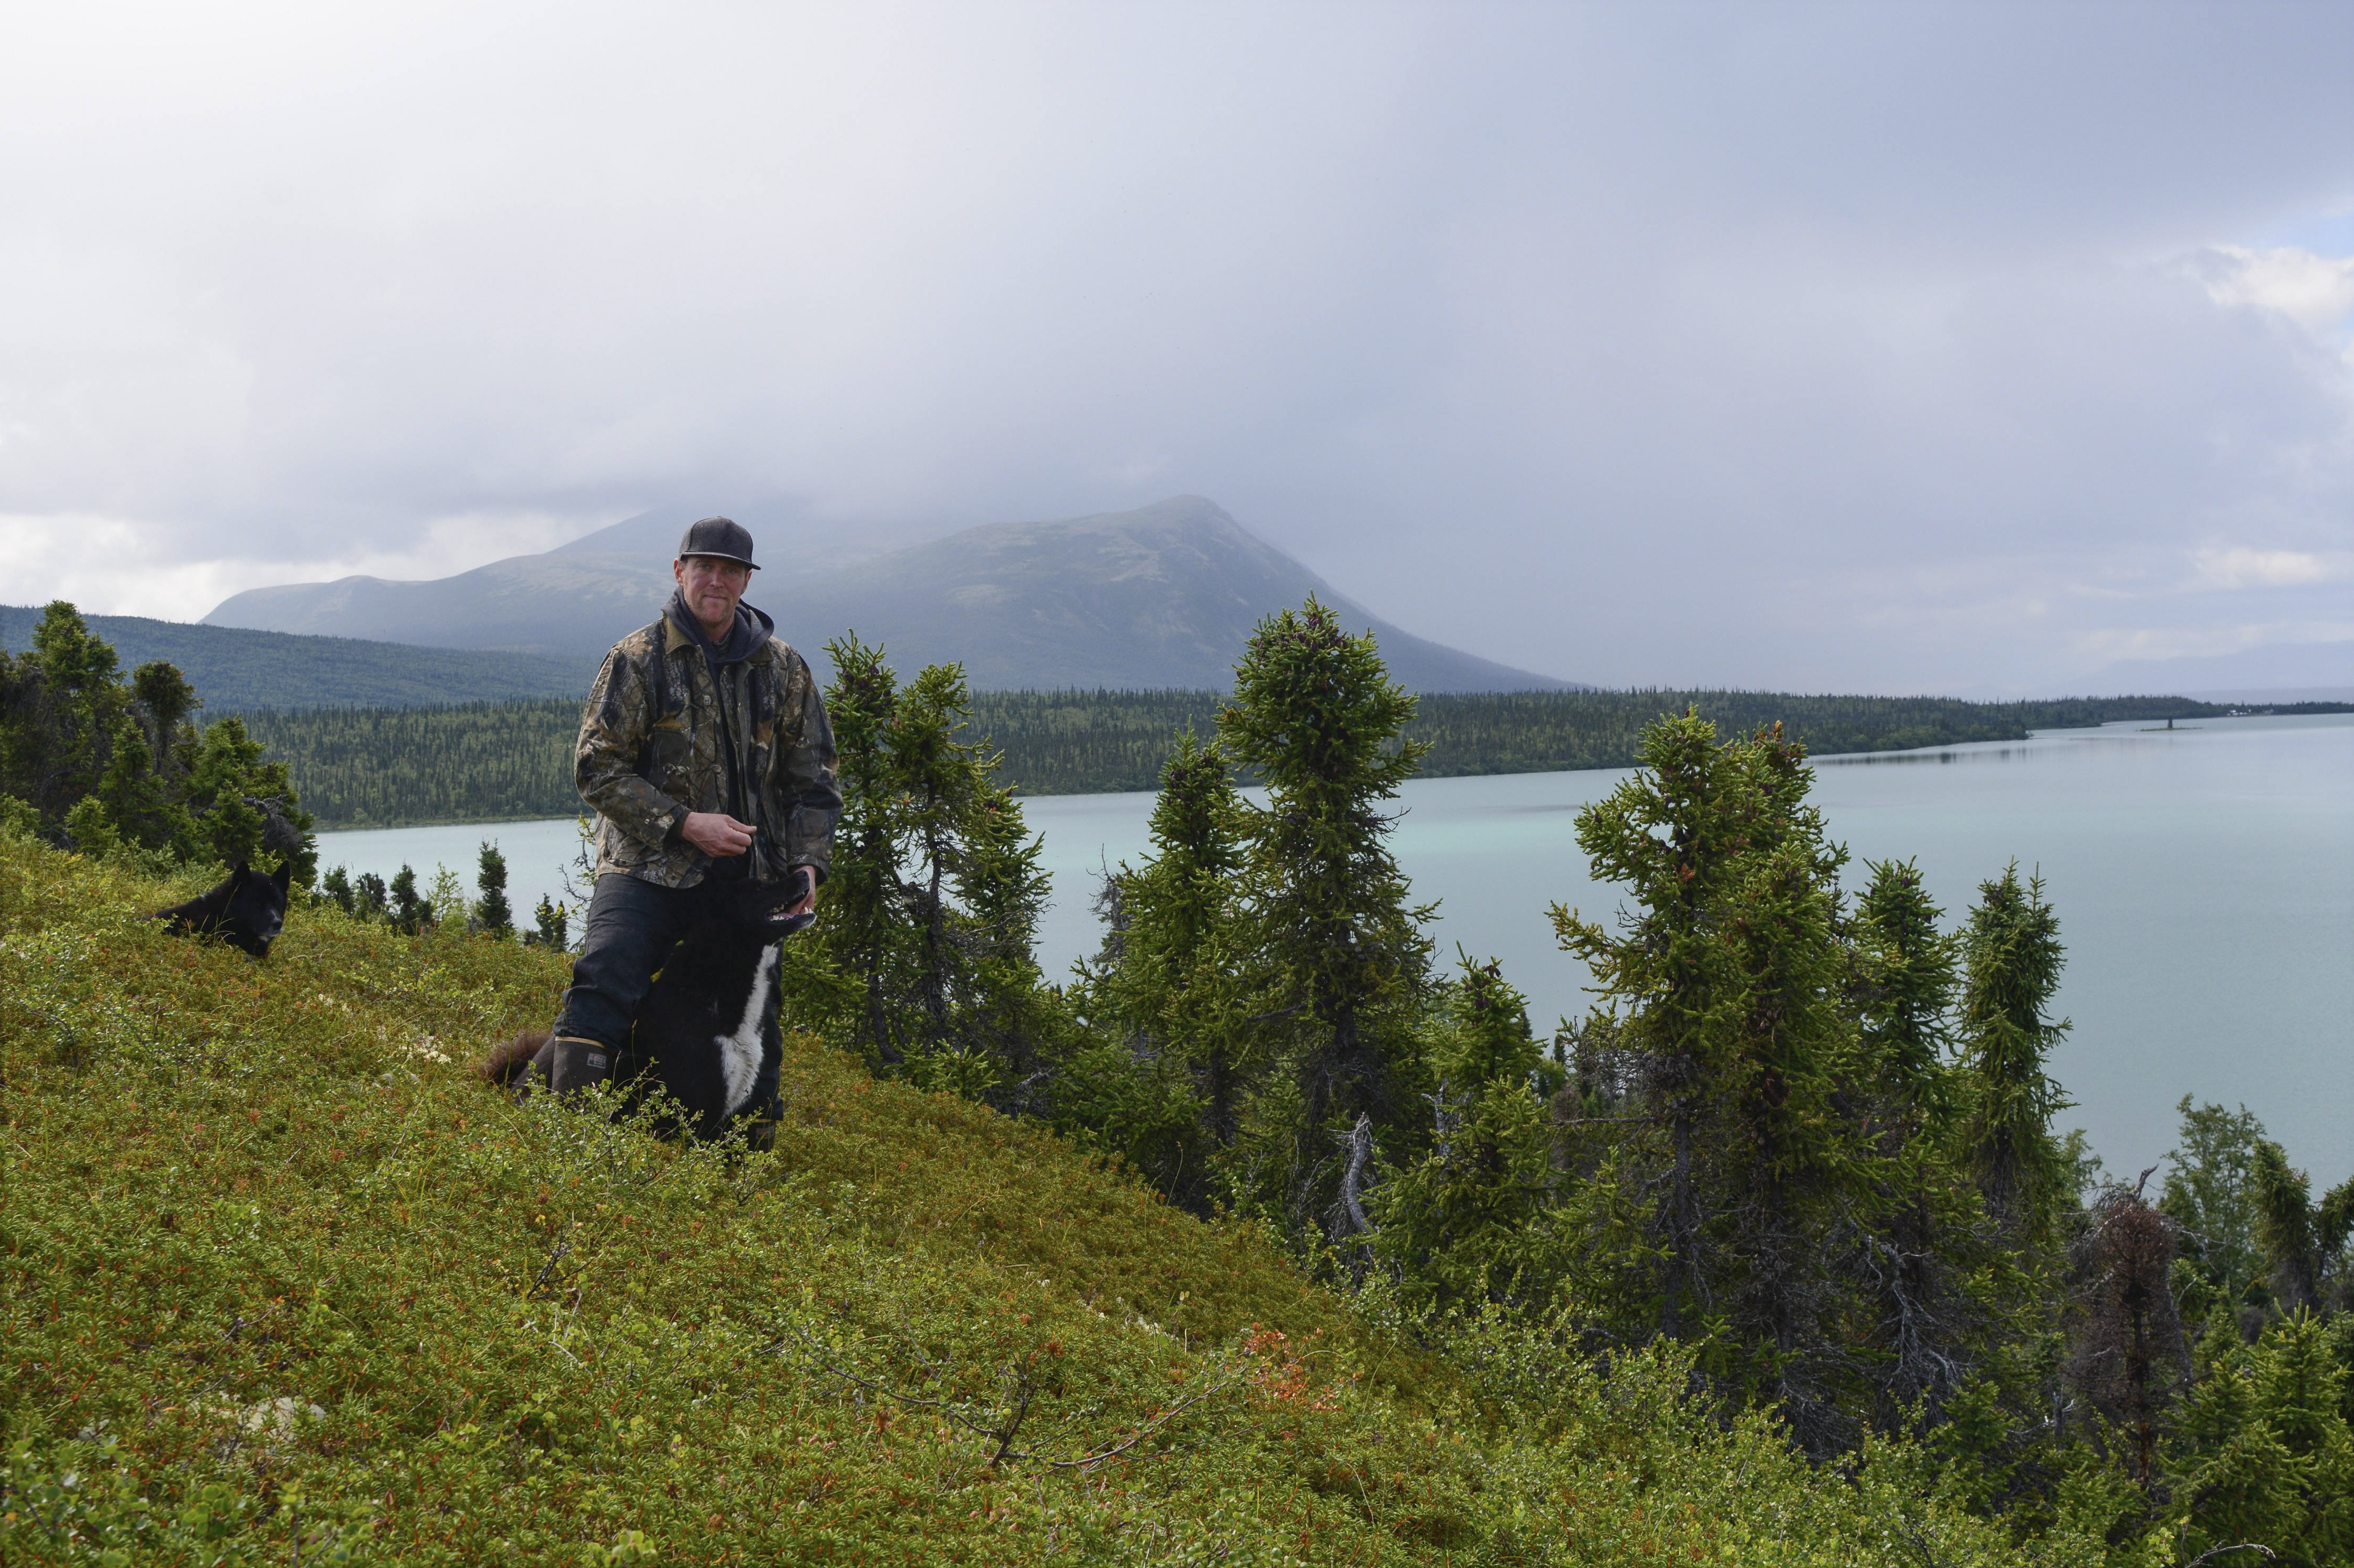
[[596,892],[556,1019],[558,1095],[612,1074],[664,956],[730,883],[798,878],[805,913],[831,864],[833,725],[810,664],[742,603],[756,570],[734,520],[687,527],[661,619],[588,687],[572,777],[598,810]]

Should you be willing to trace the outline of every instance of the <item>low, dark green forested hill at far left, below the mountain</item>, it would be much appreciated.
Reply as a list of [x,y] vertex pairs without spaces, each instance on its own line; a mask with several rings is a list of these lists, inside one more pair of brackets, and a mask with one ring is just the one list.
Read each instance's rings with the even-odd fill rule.
[[[523,652],[412,647],[360,638],[313,638],[242,626],[151,622],[141,614],[87,614],[89,629],[113,643],[122,666],[151,659],[179,666],[205,713],[250,709],[412,709],[452,702],[513,702],[588,692],[596,659],[551,659]],[[40,610],[0,605],[0,647],[33,645]]]

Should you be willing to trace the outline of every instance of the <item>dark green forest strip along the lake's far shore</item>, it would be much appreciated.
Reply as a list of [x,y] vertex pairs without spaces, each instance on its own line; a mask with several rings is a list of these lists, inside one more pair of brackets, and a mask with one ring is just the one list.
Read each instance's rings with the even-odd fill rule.
[[[1184,730],[1210,735],[1222,692],[970,692],[960,739],[1003,753],[1022,796],[1156,789]],[[1685,706],[1725,732],[1780,723],[1815,756],[2024,739],[2029,730],[2213,718],[2185,697],[1959,702],[1787,692],[1492,692],[1419,697],[1403,739],[1419,777],[1631,768],[1645,725]],[[2302,704],[2319,709],[2321,704]],[[579,810],[579,702],[440,709],[259,709],[245,716],[330,826],[518,822]]]

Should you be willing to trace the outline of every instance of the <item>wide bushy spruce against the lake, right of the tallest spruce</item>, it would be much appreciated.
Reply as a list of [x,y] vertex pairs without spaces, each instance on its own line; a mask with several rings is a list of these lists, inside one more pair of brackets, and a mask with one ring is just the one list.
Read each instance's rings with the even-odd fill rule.
[[1707,1335],[1718,1387],[1773,1401],[1808,1453],[1831,1453],[1869,1382],[1857,1222],[1904,1187],[1857,1114],[1846,852],[1806,803],[1803,756],[1780,727],[1718,744],[1697,713],[1653,725],[1643,768],[1577,824],[1634,911],[1603,925],[1554,906],[1554,923],[1641,1059],[1587,1198],[1608,1220],[1596,1274],[1617,1260],[1612,1311],[1648,1316],[1622,1330]]

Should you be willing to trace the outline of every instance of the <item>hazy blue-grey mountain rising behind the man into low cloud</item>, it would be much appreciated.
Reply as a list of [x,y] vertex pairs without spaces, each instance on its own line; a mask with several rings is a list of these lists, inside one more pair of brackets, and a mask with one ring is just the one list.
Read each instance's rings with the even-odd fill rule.
[[[690,513],[643,513],[544,556],[516,556],[440,582],[346,577],[254,589],[207,624],[334,631],[433,647],[504,647],[596,657],[654,617],[671,589],[669,551]],[[1309,593],[1370,629],[1398,683],[1419,692],[1563,690],[1568,680],[1417,638],[1330,589],[1201,497],[1057,523],[991,523],[864,560],[831,546],[803,565],[777,546],[779,520],[742,518],[772,563],[746,596],[822,664],[845,629],[892,664],[960,659],[979,690],[1217,687],[1262,614]],[[791,567],[786,563],[793,563]]]

